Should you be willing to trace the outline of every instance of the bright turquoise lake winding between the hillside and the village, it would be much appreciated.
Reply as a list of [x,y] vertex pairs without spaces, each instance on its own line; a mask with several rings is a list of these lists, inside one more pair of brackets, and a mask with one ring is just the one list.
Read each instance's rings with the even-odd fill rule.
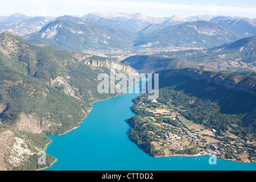
[[[138,82],[134,86],[138,86]],[[126,123],[135,115],[133,98],[126,93],[109,100],[95,102],[80,127],[67,134],[47,135],[52,142],[46,153],[57,158],[44,170],[83,171],[170,171],[170,170],[256,170],[256,163],[238,163],[210,156],[152,158],[129,139],[131,127]]]

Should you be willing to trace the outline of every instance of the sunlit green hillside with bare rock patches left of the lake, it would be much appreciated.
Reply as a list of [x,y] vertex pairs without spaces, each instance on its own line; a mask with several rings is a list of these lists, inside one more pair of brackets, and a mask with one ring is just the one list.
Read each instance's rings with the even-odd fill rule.
[[[110,75],[110,68],[138,75],[104,57],[36,47],[10,32],[0,34],[0,168],[46,167],[37,163],[37,152],[49,143],[44,134],[78,127],[92,102],[116,95],[97,91],[98,75]],[[21,145],[24,150],[16,155]]]

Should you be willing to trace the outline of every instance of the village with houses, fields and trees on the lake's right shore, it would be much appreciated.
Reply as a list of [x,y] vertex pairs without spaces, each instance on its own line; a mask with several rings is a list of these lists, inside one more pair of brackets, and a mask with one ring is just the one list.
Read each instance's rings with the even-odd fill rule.
[[249,156],[253,149],[246,147],[255,146],[255,141],[241,139],[231,133],[218,136],[215,129],[207,129],[186,119],[182,115],[184,110],[175,105],[164,105],[141,97],[135,106],[135,110],[143,110],[150,115],[140,118],[143,126],[148,126],[151,144],[158,151],[156,157],[210,155],[214,152],[221,159],[255,162],[255,158]]

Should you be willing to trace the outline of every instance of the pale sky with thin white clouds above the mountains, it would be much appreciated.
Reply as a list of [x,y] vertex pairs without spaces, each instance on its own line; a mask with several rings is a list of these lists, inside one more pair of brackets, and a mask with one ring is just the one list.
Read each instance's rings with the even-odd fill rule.
[[85,15],[92,11],[143,13],[152,17],[218,14],[256,18],[255,0],[0,0],[0,16]]

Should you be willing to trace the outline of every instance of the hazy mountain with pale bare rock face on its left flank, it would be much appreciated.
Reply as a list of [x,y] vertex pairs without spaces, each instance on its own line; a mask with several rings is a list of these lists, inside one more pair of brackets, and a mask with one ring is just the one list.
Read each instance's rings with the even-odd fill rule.
[[115,27],[92,22],[61,17],[44,26],[42,30],[27,36],[27,39],[45,39],[72,51],[85,49],[120,49],[130,46],[134,36],[131,32],[121,31]]

